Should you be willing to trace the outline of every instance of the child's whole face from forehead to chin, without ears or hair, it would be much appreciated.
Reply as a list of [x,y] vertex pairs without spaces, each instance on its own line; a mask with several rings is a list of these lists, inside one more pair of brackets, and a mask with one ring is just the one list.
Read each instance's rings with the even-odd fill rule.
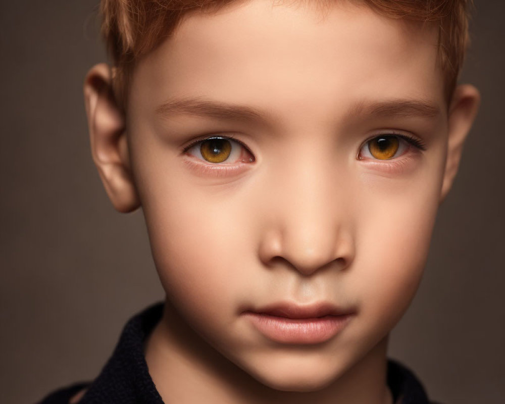
[[[436,40],[344,2],[252,1],[189,16],[135,69],[126,127],[163,287],[269,386],[383,356],[417,289],[447,151]],[[210,137],[236,140],[193,144]],[[279,305],[346,316],[269,322]]]

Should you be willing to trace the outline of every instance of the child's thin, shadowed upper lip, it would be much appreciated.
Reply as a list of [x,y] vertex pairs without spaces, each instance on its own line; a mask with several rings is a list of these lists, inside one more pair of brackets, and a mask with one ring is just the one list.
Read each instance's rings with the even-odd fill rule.
[[354,313],[350,309],[342,309],[327,302],[312,305],[298,305],[291,302],[279,302],[259,309],[250,310],[256,314],[286,317],[290,319],[310,319],[324,316],[343,316]]

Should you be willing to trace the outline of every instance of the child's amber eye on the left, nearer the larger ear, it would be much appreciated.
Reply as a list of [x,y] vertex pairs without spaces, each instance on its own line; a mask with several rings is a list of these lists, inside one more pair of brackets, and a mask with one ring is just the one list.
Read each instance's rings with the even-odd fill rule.
[[241,142],[221,136],[198,140],[186,147],[184,152],[213,164],[254,161],[254,157]]

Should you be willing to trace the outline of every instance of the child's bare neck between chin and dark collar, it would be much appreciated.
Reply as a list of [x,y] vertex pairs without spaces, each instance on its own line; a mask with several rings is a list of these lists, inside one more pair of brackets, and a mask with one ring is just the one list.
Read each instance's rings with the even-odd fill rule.
[[272,389],[252,378],[202,340],[165,306],[145,345],[149,373],[165,402],[234,404],[391,404],[386,387],[384,338],[357,364],[327,387],[292,392]]

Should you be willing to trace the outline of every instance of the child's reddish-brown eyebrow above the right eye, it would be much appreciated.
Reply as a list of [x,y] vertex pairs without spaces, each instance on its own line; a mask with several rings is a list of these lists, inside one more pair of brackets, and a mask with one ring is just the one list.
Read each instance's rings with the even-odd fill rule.
[[433,103],[414,99],[391,99],[371,103],[360,102],[349,109],[348,115],[368,115],[393,118],[436,118],[440,108]]

